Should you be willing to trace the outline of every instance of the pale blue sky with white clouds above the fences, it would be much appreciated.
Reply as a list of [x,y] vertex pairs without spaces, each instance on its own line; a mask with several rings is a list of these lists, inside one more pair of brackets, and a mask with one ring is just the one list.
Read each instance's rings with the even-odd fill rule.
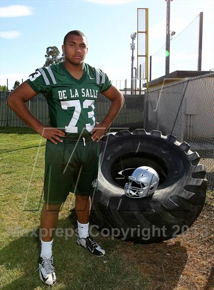
[[[18,7],[14,7],[14,5]],[[21,7],[19,7],[21,6]],[[65,34],[83,31],[89,44],[86,62],[104,70],[112,80],[130,78],[130,34],[137,31],[137,8],[149,8],[149,55],[165,43],[166,2],[150,1],[1,1],[0,83],[9,88],[45,63],[47,46],[61,51]],[[204,12],[202,70],[213,64],[213,1],[171,2],[171,31],[176,37]],[[21,15],[21,16],[19,16]],[[137,41],[136,41],[137,44]],[[165,48],[153,57],[152,76],[165,74]],[[198,18],[171,41],[171,69],[197,70]],[[135,66],[137,62],[135,62]]]

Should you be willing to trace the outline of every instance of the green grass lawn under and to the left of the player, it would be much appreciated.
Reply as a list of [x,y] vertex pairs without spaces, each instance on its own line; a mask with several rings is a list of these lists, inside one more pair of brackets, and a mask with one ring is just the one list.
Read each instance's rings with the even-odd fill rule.
[[[39,227],[43,204],[45,139],[41,140],[31,130],[0,132],[0,289],[46,289],[37,270],[40,242],[33,235],[33,230]],[[76,228],[75,215],[69,217],[71,208],[74,208],[73,194],[60,213],[58,227],[64,230]],[[19,229],[15,235],[9,231],[14,227]],[[94,230],[94,233],[98,232]],[[52,289],[150,289],[150,279],[133,262],[123,259],[130,244],[101,235],[96,241],[106,251],[103,258],[77,246],[75,235],[67,240],[65,236],[55,236],[53,253],[58,282]]]

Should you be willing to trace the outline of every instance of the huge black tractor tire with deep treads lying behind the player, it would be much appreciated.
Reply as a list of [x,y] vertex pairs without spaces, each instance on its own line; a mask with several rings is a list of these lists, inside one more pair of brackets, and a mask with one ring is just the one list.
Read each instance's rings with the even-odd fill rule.
[[[90,222],[103,234],[148,244],[171,239],[193,224],[205,202],[207,180],[189,144],[144,129],[106,134],[100,144]],[[158,173],[157,190],[149,197],[127,197],[124,185],[140,166]]]

